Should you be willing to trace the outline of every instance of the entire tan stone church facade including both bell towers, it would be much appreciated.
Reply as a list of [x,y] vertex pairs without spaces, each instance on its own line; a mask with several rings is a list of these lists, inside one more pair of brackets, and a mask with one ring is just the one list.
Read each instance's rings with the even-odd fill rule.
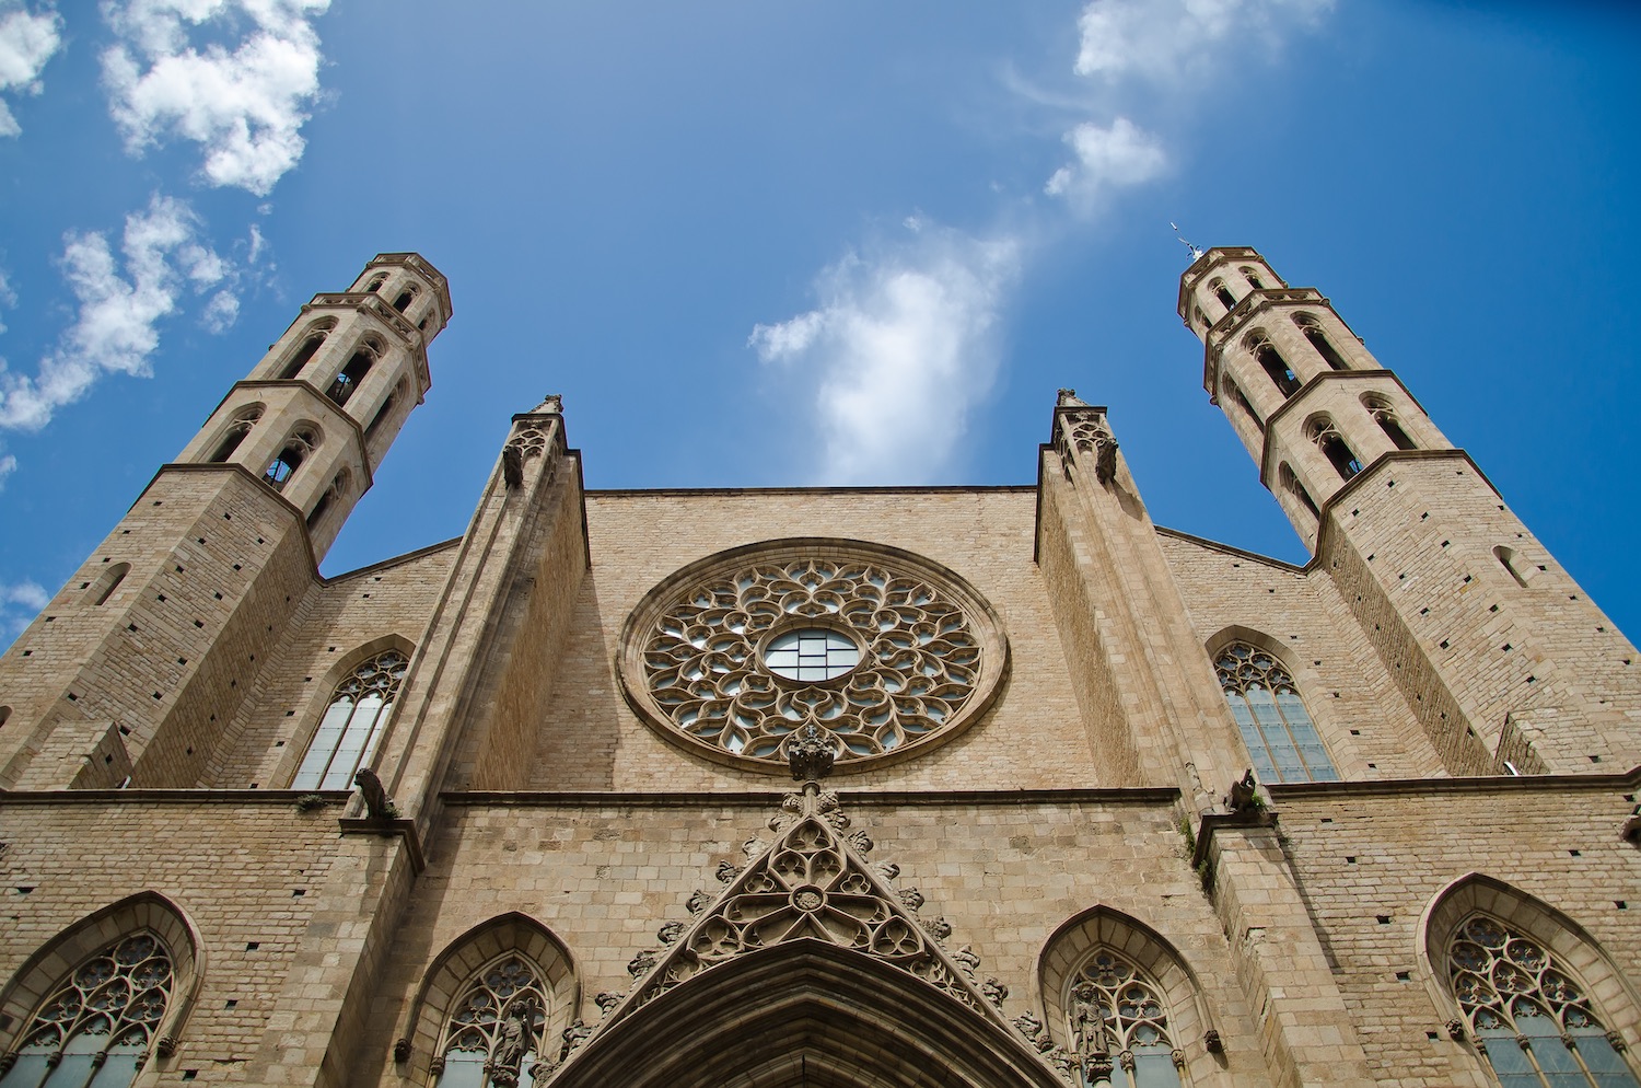
[[1305,566],[1062,391],[1021,487],[548,397],[322,578],[450,315],[317,295],[0,658],[0,1088],[1636,1086],[1636,650],[1316,290],[1180,282]]

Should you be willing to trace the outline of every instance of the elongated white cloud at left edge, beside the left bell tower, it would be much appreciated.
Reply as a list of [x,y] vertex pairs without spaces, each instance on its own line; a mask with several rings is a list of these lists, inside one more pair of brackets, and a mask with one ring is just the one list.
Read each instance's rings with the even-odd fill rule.
[[[107,235],[64,236],[62,269],[79,313],[41,359],[39,374],[0,368],[0,427],[39,430],[105,371],[146,377],[159,320],[177,310],[184,287],[207,290],[230,277],[228,266],[197,235],[199,222],[184,202],[156,195],[146,212],[125,220],[123,274]],[[213,300],[212,310],[225,315],[226,304]]]

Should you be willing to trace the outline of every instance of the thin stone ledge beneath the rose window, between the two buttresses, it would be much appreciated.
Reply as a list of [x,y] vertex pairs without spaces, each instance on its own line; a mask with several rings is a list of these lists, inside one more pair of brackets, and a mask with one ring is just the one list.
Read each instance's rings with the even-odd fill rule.
[[[793,786],[796,789],[796,784]],[[1175,786],[1113,786],[1095,789],[850,789],[827,783],[837,789],[843,804],[1173,804],[1180,799]],[[620,806],[633,809],[684,809],[684,807],[770,807],[779,806],[789,789],[768,791],[711,791],[686,789],[661,791],[512,791],[512,789],[456,789],[438,794],[453,807],[576,807]]]

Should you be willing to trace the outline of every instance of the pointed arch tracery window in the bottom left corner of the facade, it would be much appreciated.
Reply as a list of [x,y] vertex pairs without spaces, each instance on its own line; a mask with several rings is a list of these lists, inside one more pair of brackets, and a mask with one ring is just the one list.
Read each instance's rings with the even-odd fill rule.
[[151,930],[103,947],[59,983],[23,1031],[5,1088],[126,1088],[171,1003],[171,950]]

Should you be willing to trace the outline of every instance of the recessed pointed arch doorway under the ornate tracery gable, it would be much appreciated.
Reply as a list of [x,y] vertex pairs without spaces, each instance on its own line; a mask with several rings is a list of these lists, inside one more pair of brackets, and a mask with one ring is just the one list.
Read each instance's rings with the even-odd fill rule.
[[881,960],[758,949],[604,1026],[553,1088],[1065,1088],[1024,1039]]

